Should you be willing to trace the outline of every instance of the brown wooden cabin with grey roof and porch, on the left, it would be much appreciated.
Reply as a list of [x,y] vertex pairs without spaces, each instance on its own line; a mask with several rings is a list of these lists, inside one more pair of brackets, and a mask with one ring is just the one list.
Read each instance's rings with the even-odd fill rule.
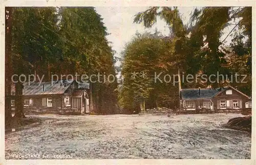
[[[75,80],[28,82],[23,84],[24,107],[62,111],[71,109],[78,114],[89,110],[89,83]],[[15,84],[11,88],[11,106],[15,108]]]

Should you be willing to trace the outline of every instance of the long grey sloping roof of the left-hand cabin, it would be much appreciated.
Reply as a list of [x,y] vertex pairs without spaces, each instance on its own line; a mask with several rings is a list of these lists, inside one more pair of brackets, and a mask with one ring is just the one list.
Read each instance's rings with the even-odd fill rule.
[[[40,82],[31,82],[30,85],[28,82],[23,83],[23,95],[52,95],[52,94],[63,94],[71,86],[74,80],[58,80],[57,82],[52,81],[42,81]],[[43,91],[44,88],[44,91]],[[15,95],[15,84],[11,86],[11,95]]]

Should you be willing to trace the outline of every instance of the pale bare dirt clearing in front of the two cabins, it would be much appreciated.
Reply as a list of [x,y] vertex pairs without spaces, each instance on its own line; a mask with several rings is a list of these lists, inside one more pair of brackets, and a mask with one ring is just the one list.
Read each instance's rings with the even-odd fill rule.
[[33,154],[30,159],[249,159],[250,133],[222,127],[240,116],[34,115],[52,122],[7,133],[5,154],[6,159]]

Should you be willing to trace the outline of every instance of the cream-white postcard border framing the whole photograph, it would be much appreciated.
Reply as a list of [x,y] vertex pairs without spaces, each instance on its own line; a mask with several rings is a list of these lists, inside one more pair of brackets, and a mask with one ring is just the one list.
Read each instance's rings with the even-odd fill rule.
[[1,123],[1,150],[0,164],[255,164],[256,141],[255,141],[255,109],[256,101],[252,101],[252,143],[251,159],[63,159],[63,160],[6,160],[5,159],[5,7],[46,7],[46,6],[252,6],[252,98],[256,97],[256,2],[251,1],[3,1],[1,0],[1,56],[0,56],[0,123]]

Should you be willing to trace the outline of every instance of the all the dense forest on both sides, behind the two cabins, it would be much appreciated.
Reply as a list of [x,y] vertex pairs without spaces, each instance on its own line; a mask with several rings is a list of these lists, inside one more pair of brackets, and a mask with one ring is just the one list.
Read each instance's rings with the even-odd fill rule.
[[[145,108],[179,107],[179,89],[237,86],[251,96],[251,7],[196,8],[184,24],[177,7],[150,7],[135,15],[145,28],[157,18],[169,26],[169,36],[156,31],[137,33],[121,55],[123,79],[90,83],[90,109],[97,114],[132,114]],[[233,25],[229,34],[223,30]],[[11,121],[11,75],[51,74],[116,75],[115,51],[106,27],[93,7],[6,8],[6,124]],[[226,35],[225,39],[221,37]],[[225,44],[227,37],[230,45]],[[131,73],[138,72],[136,78]],[[221,81],[155,83],[156,72],[177,74],[246,74],[237,83]],[[142,76],[141,76],[142,73]],[[146,73],[143,75],[143,73]],[[162,77],[163,78],[163,77]],[[243,78],[243,77],[240,77]],[[16,84],[16,118],[23,113],[23,86]]]

